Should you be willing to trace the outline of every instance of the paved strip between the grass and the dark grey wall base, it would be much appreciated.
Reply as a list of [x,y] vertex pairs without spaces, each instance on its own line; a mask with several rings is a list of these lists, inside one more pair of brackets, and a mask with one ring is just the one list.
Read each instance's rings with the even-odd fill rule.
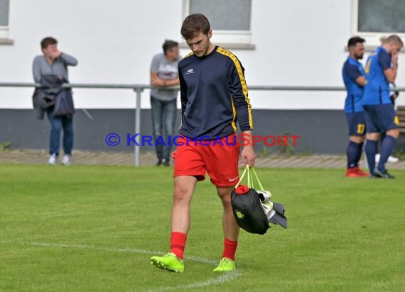
[[[10,164],[45,164],[48,152],[45,150],[5,150],[0,151],[0,163]],[[134,153],[131,152],[87,152],[75,150],[74,164],[82,165],[133,165]],[[153,152],[141,152],[141,165],[148,166],[156,163]],[[311,167],[311,168],[345,168],[346,158],[342,155],[269,155],[259,156],[257,167]],[[361,165],[365,165],[361,162]],[[405,169],[405,161],[389,163],[389,169]]]

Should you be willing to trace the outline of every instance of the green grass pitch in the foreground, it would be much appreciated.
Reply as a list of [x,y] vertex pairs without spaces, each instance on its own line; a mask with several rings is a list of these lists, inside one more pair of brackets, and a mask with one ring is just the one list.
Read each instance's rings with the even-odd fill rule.
[[168,252],[171,168],[0,164],[0,291],[405,291],[405,172],[257,169],[288,229],[242,231],[236,273],[215,274],[222,206],[195,191],[185,272]]

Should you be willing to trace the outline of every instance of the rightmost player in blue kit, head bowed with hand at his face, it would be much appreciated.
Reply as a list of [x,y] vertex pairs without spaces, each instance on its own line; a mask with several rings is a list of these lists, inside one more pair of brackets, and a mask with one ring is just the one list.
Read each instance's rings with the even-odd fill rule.
[[[366,63],[365,73],[367,84],[363,96],[363,108],[367,125],[367,142],[365,152],[369,164],[370,177],[393,179],[387,172],[385,164],[394,150],[396,138],[399,136],[399,120],[390,99],[389,84],[394,83],[398,70],[398,55],[404,46],[401,38],[390,35],[377,50],[372,52]],[[380,158],[375,167],[377,141],[380,133],[386,133],[382,141]]]

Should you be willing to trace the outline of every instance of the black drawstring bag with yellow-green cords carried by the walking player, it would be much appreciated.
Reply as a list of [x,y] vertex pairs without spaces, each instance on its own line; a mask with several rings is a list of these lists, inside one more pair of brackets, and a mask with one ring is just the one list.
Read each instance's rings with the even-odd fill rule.
[[[247,186],[244,186],[241,185],[241,182],[246,174]],[[253,175],[259,184],[259,191],[254,189]],[[264,235],[270,227],[269,223],[287,228],[284,205],[271,201],[271,193],[264,191],[253,167],[247,166],[244,169],[238,184],[231,193],[231,203],[237,224],[247,232]]]

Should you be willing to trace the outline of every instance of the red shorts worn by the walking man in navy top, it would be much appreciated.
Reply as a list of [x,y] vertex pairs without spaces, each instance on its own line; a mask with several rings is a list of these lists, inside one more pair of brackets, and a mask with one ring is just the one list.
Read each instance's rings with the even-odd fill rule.
[[191,140],[179,137],[175,150],[174,177],[211,178],[215,186],[235,186],[239,181],[239,141],[236,135],[217,140]]

